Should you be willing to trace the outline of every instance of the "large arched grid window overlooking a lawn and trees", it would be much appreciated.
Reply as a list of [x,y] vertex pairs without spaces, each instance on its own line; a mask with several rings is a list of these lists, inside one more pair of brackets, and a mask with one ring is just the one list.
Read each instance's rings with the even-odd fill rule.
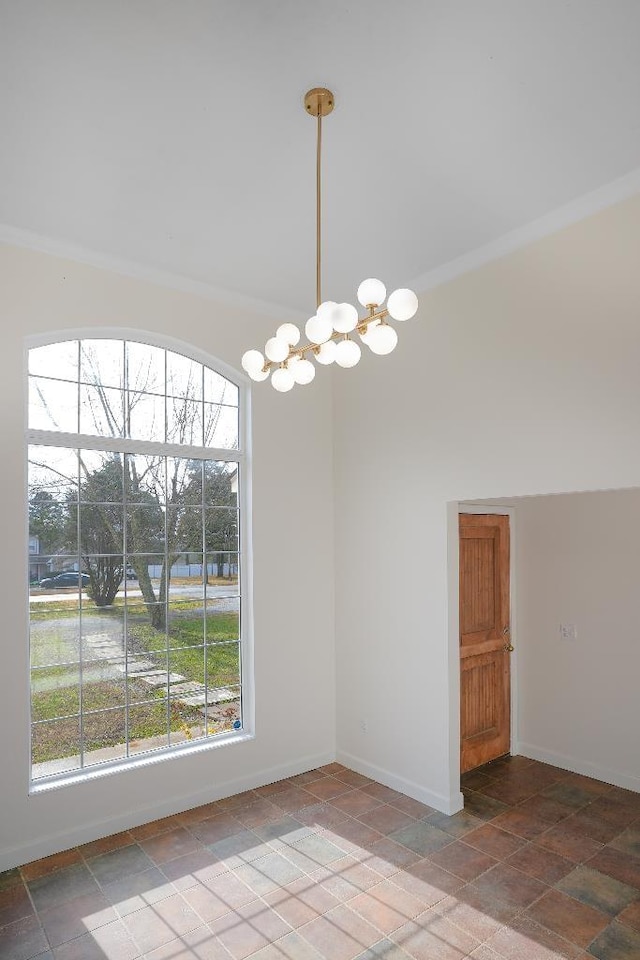
[[132,339],[29,350],[32,780],[242,731],[239,394]]

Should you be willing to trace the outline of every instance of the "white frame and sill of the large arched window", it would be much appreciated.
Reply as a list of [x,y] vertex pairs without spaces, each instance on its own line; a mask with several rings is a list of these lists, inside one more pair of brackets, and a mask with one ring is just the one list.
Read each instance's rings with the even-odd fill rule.
[[[57,447],[78,447],[86,450],[104,450],[133,454],[161,454],[167,457],[184,457],[184,444],[157,443],[147,440],[128,440],[126,438],[96,437],[79,433],[29,429],[29,351],[35,347],[48,346],[67,340],[128,340],[149,347],[159,347],[181,354],[201,363],[215,373],[220,374],[238,388],[238,447],[220,449],[217,447],[189,446],[194,457],[204,460],[218,460],[238,464],[238,512],[240,516],[240,617],[239,642],[241,655],[242,682],[242,729],[228,733],[207,736],[195,742],[175,744],[150,750],[148,753],[105,761],[65,773],[53,774],[34,780],[29,756],[29,794],[44,793],[52,789],[82,783],[87,780],[109,776],[126,770],[134,770],[154,763],[219,749],[233,743],[242,743],[255,737],[255,694],[254,694],[254,645],[253,645],[253,554],[252,554],[252,516],[251,516],[251,388],[249,380],[238,370],[230,367],[217,357],[199,350],[192,344],[167,337],[155,332],[122,327],[83,327],[60,330],[25,338],[24,341],[24,423],[25,423],[25,475],[28,449],[31,444],[44,444]],[[25,544],[29,544],[28,487],[25,484]],[[28,578],[27,578],[28,580]],[[29,636],[30,614],[27,595],[27,637]],[[29,676],[27,677],[27,696],[29,703],[29,745],[31,745],[31,651],[29,650]]]

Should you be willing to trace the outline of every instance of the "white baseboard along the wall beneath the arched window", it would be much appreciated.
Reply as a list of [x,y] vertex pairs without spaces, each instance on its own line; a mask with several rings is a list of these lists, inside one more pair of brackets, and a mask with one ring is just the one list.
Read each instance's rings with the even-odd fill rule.
[[4,850],[0,850],[0,871],[10,870],[12,867],[30,863],[32,860],[40,860],[42,857],[60,853],[62,850],[69,850],[71,847],[80,846],[82,843],[99,840],[101,837],[108,837],[112,833],[120,833],[122,830],[139,827],[143,823],[150,823],[153,820],[159,820],[161,817],[182,813],[192,807],[199,807],[214,800],[222,800],[224,797],[242,793],[243,790],[253,790],[268,783],[275,783],[277,780],[284,780],[286,777],[293,777],[298,773],[306,773],[307,770],[322,767],[333,760],[335,760],[333,753],[305,757],[294,763],[256,771],[236,780],[227,780],[225,783],[216,784],[197,793],[185,793],[178,798],[173,797],[169,801],[161,801],[138,807],[135,810],[127,810],[105,820],[80,823],[71,830],[48,834],[25,843],[16,844],[13,847],[6,847]]

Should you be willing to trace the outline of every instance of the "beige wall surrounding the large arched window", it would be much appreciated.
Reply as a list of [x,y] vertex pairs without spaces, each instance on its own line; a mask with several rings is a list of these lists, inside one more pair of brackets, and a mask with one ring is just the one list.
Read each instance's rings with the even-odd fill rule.
[[335,750],[335,689],[329,378],[300,388],[295,400],[256,385],[255,739],[28,796],[25,338],[132,329],[177,338],[237,368],[274,321],[8,246],[0,247],[0,289],[1,870],[326,762]]

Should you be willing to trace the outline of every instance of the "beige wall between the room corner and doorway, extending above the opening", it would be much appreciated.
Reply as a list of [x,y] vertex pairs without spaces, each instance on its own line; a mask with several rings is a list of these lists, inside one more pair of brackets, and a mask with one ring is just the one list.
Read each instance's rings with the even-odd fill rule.
[[448,504],[640,485],[639,235],[635,197],[423,294],[393,354],[335,372],[338,756],[441,809]]

